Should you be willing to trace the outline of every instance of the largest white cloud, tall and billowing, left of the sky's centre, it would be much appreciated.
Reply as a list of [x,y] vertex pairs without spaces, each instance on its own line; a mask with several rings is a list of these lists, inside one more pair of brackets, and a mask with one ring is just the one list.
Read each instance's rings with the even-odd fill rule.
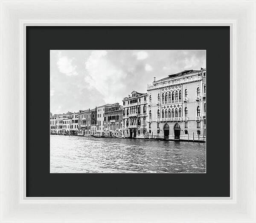
[[116,96],[125,87],[126,73],[113,65],[105,50],[94,50],[85,62],[87,74],[84,80],[89,87],[96,88],[104,96],[106,103],[114,103]]

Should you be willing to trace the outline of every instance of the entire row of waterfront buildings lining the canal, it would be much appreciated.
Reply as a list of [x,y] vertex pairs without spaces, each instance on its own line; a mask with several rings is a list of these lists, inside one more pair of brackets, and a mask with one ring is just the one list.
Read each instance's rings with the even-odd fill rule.
[[132,138],[206,139],[206,69],[155,80],[119,103],[50,115],[50,133]]

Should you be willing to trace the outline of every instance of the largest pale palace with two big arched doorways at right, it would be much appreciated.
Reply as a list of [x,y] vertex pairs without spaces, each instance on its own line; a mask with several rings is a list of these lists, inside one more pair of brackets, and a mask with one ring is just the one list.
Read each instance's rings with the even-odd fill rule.
[[154,78],[147,91],[149,136],[206,139],[206,69]]

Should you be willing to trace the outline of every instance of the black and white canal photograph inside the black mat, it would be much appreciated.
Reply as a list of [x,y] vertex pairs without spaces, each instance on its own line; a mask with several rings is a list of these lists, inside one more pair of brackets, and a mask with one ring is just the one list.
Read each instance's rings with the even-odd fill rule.
[[206,173],[206,50],[50,50],[50,173]]

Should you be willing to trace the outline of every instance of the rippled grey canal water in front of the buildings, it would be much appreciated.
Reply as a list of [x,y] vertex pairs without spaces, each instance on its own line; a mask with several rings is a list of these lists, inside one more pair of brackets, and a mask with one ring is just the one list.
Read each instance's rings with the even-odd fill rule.
[[206,144],[50,135],[50,173],[205,173]]

